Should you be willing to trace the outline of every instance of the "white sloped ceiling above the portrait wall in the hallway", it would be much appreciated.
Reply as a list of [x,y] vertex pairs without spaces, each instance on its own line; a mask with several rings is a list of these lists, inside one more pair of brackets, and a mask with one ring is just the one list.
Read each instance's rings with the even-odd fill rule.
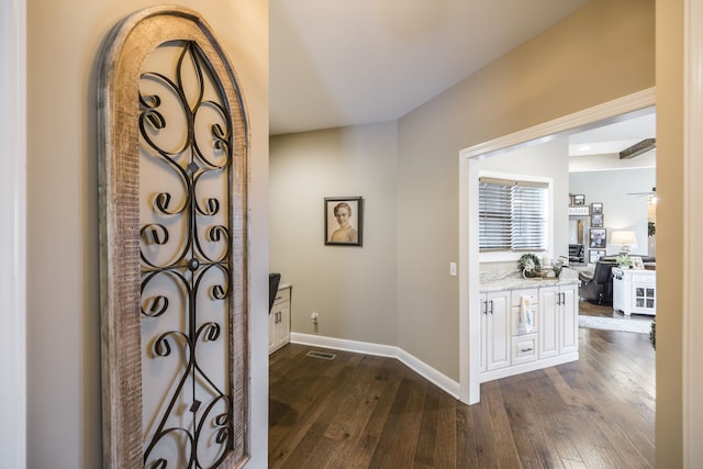
[[270,0],[271,135],[397,120],[589,0]]

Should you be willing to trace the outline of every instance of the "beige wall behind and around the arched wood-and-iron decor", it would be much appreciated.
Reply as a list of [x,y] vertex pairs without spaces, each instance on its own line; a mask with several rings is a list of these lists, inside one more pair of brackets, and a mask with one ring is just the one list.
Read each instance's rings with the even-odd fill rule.
[[[27,0],[27,467],[101,467],[96,92],[102,42],[137,0]],[[266,467],[268,2],[177,1],[209,21],[252,130],[250,467]]]

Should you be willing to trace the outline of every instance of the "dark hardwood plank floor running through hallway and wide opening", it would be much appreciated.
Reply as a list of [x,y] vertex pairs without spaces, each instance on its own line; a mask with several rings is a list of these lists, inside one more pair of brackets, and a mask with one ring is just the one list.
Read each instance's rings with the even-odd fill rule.
[[287,345],[270,357],[269,467],[654,467],[648,336],[579,339],[578,362],[484,383],[470,406],[395,359]]

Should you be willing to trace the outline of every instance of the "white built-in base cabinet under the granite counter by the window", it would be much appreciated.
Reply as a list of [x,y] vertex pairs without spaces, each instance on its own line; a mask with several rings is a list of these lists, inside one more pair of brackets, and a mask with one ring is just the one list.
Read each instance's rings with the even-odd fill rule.
[[577,298],[556,282],[482,293],[479,381],[578,360]]

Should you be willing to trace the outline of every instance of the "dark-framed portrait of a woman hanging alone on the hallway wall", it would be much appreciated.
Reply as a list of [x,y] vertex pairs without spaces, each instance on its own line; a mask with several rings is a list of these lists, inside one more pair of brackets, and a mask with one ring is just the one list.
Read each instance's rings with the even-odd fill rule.
[[325,245],[361,246],[364,199],[325,197]]

